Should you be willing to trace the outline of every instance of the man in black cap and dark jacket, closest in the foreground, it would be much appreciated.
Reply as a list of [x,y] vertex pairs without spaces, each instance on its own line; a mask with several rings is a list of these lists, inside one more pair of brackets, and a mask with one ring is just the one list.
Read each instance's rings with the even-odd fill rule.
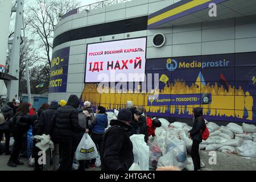
[[131,117],[129,109],[122,109],[117,120],[110,121],[112,127],[106,131],[102,143],[102,171],[128,171],[133,164],[133,143],[129,135]]

